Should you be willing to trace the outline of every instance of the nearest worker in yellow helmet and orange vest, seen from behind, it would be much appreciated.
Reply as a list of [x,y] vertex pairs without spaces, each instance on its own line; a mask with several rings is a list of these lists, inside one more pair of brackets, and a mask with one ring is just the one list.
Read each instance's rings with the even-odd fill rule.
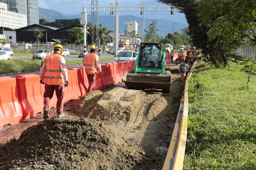
[[68,85],[67,67],[64,57],[62,56],[63,47],[57,44],[53,48],[54,53],[44,58],[40,69],[40,83],[45,84],[44,91],[44,119],[49,118],[49,105],[54,90],[57,96],[57,115],[63,117],[63,97],[64,86]]

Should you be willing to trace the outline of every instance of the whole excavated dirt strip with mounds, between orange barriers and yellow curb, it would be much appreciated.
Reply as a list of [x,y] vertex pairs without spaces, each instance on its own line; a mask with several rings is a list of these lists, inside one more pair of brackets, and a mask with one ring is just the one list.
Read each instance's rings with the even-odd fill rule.
[[92,91],[69,102],[65,118],[39,122],[0,145],[0,169],[160,170],[183,93],[178,66],[166,66],[170,93],[124,83]]

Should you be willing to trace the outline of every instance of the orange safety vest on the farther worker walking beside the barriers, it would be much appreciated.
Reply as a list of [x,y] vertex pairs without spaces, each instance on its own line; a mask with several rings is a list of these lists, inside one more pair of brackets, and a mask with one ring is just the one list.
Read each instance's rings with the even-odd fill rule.
[[85,73],[86,74],[97,73],[95,57],[96,57],[96,54],[94,54],[94,53],[89,53],[89,54],[86,54],[84,56],[83,65],[85,66]]

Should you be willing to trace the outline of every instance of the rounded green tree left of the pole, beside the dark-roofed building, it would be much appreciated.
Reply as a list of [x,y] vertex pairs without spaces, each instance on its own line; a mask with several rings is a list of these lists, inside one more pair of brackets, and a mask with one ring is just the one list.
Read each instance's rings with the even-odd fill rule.
[[84,33],[83,33],[83,28],[79,28],[79,27],[74,27],[72,28],[72,30],[70,31],[70,33],[68,33],[69,36],[69,40],[70,42],[76,44],[76,45],[80,45],[80,50],[81,50],[81,45],[84,42]]

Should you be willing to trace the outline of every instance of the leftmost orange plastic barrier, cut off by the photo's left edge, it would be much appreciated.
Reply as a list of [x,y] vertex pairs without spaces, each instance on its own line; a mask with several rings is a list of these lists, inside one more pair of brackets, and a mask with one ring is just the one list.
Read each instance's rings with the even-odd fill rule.
[[16,79],[0,77],[0,129],[4,125],[14,125],[22,120]]

